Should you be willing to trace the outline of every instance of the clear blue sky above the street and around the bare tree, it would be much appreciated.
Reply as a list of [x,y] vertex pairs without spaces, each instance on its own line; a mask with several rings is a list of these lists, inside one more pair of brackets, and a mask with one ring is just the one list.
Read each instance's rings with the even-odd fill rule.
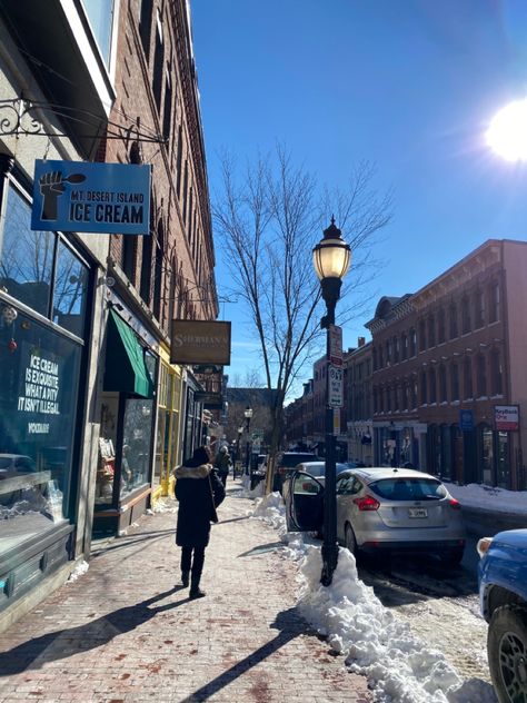
[[[193,0],[191,12],[212,198],[222,149],[250,159],[277,141],[320,182],[342,185],[366,159],[394,189],[386,266],[345,347],[369,338],[382,295],[418,290],[488,238],[527,237],[527,166],[485,142],[496,111],[527,96],[525,0]],[[221,297],[218,245],[217,258]],[[232,320],[226,373],[257,368],[240,306],[220,319]]]

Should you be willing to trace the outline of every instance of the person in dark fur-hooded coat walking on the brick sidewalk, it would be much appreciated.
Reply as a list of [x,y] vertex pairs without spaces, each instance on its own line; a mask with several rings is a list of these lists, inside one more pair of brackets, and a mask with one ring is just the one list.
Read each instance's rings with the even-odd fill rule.
[[195,449],[175,471],[176,497],[179,501],[176,544],[181,547],[181,583],[189,585],[190,598],[201,598],[199,587],[205,548],[209,544],[210,523],[218,522],[216,508],[225,498],[225,487],[211,464],[207,447]]

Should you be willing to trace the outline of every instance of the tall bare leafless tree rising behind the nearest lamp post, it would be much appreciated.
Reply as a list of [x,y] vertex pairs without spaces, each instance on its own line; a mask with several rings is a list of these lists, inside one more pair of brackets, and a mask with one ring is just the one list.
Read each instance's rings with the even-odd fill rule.
[[[212,214],[232,293],[247,304],[249,324],[259,340],[266,386],[277,392],[271,408],[272,458],[282,436],[286,395],[321,349],[321,296],[311,264],[312,247],[335,212],[354,251],[354,300],[347,303],[345,289],[339,306],[339,320],[345,324],[364,306],[360,287],[378,268],[371,249],[391,218],[391,194],[377,195],[375,169],[366,162],[358,165],[346,190],[321,191],[314,176],[295,167],[282,147],[242,172],[228,156],[221,167],[222,190],[215,198]],[[272,473],[271,461],[268,491]]]

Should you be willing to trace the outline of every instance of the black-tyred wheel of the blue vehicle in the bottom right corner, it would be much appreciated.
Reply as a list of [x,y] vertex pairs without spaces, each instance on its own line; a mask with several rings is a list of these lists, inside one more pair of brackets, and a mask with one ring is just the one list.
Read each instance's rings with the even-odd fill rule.
[[487,654],[499,703],[527,700],[527,610],[503,605],[488,626]]

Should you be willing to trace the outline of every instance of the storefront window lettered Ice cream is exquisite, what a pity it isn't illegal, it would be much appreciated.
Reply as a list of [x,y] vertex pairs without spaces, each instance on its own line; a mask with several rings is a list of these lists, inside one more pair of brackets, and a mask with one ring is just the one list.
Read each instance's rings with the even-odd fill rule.
[[69,515],[81,346],[0,300],[0,554]]

